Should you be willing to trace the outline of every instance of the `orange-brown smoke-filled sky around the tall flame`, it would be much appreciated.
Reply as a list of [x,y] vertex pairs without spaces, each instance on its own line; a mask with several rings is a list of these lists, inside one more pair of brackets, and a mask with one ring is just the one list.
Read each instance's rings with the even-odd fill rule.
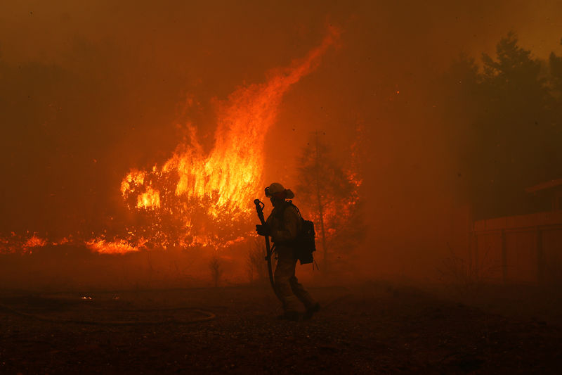
[[538,57],[560,53],[560,1],[3,1],[1,231],[65,236],[126,217],[131,168],[170,158],[188,124],[209,150],[218,103],[306,56],[330,25],[339,42],[266,134],[264,181],[295,185],[315,130],[343,159],[362,125],[365,257],[423,265],[407,249],[444,247],[461,204],[435,81],[509,31]]

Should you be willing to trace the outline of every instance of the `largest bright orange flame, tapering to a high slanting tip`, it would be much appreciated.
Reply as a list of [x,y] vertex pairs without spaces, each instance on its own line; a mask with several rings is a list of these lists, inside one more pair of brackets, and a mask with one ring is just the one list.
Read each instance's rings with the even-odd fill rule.
[[[337,35],[330,29],[306,58],[277,70],[266,83],[237,89],[228,101],[219,103],[214,147],[209,153],[202,151],[190,127],[190,143],[180,144],[162,166],[126,174],[121,192],[129,208],[155,212],[151,241],[159,237],[157,245],[164,248],[186,243],[216,246],[240,236],[242,222],[251,215],[256,186],[261,186],[264,139],[275,123],[282,97],[316,68]],[[181,228],[176,238],[163,233],[170,222]]]

